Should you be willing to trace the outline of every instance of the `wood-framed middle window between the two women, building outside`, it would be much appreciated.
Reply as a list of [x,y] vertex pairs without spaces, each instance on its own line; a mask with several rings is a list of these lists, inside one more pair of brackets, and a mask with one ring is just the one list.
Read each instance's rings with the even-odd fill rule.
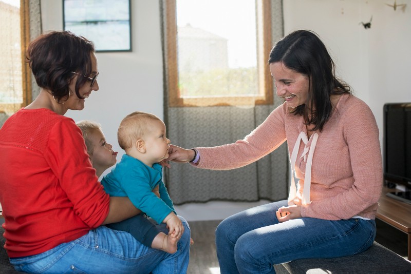
[[166,25],[171,107],[273,103],[270,1],[167,1]]

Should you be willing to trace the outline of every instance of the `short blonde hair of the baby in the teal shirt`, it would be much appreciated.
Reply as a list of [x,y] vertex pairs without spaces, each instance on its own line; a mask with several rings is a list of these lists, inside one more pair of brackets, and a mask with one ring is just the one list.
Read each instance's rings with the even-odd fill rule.
[[120,147],[124,150],[129,149],[138,139],[143,139],[148,129],[148,122],[153,120],[161,121],[156,115],[142,111],[135,111],[125,116],[117,131]]

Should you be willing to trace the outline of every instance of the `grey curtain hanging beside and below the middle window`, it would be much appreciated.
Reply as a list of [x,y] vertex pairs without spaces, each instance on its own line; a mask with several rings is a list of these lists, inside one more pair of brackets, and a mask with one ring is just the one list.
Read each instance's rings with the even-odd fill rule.
[[[283,36],[281,0],[271,0],[272,44]],[[162,41],[166,43],[165,3],[160,1]],[[164,75],[167,56],[164,51]],[[268,60],[268,56],[267,56]],[[274,90],[273,90],[274,92]],[[274,108],[282,103],[275,96],[273,105],[244,108],[169,107],[166,77],[164,76],[164,122],[172,144],[184,147],[208,147],[233,143],[243,139],[261,124]],[[288,152],[286,144],[263,159],[246,167],[215,171],[194,168],[189,164],[172,163],[164,169],[164,182],[175,204],[188,202],[278,201],[288,195]]]

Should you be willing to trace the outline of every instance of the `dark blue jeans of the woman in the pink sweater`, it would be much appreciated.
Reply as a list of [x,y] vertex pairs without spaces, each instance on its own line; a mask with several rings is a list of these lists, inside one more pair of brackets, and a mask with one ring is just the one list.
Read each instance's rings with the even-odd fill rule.
[[275,273],[274,264],[354,255],[368,249],[375,239],[375,220],[300,218],[279,223],[275,211],[282,206],[287,201],[250,208],[218,225],[221,274]]

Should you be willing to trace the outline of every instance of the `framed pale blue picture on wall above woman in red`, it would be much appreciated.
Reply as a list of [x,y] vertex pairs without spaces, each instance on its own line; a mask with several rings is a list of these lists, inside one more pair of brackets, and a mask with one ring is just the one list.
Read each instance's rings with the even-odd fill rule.
[[94,42],[97,52],[131,51],[130,0],[63,0],[63,28]]

